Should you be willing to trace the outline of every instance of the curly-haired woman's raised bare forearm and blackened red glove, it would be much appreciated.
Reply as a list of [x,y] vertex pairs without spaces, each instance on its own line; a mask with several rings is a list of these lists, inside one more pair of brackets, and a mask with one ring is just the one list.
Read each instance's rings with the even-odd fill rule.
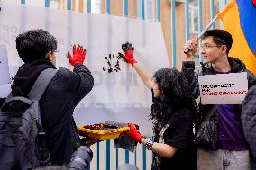
[[143,83],[149,88],[151,89],[153,82],[151,80],[151,76],[146,73],[142,67],[139,66],[139,64],[137,63],[136,59],[133,56],[133,46],[131,43],[126,42],[125,44],[122,45],[122,49],[124,51],[124,55],[119,53],[119,56],[122,57],[124,59],[125,62],[131,64],[135,71],[138,73],[138,75],[141,77]]

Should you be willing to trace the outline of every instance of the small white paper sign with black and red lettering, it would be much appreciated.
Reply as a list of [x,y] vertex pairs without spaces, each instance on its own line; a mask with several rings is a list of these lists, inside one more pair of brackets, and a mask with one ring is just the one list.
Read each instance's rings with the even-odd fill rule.
[[248,91],[247,73],[198,76],[202,104],[241,104]]

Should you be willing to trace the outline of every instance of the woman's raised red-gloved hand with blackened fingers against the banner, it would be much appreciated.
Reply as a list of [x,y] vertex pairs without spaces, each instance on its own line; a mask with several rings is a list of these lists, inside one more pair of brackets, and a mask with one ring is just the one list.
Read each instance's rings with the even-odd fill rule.
[[137,63],[136,59],[133,57],[134,47],[131,43],[126,42],[125,44],[122,44],[122,50],[124,52],[124,55],[122,53],[118,54],[121,58],[124,59],[124,61],[130,63],[132,66],[134,63]]

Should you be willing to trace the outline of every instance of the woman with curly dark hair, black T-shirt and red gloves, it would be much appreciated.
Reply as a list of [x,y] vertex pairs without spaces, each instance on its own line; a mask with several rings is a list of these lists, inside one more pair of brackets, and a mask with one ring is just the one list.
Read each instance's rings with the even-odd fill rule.
[[194,100],[187,78],[175,68],[162,68],[151,78],[133,58],[133,46],[122,46],[121,57],[130,63],[144,84],[152,91],[151,119],[154,141],[145,139],[134,125],[125,135],[154,152],[151,169],[197,169],[197,155],[193,148]]

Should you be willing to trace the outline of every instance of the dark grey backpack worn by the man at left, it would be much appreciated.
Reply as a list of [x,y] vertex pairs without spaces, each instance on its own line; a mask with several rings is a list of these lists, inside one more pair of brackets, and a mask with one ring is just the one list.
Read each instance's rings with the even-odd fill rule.
[[[56,72],[52,68],[43,70],[32,86],[29,99],[10,94],[1,107],[0,169],[27,170],[50,166],[39,100]],[[26,107],[23,110],[10,109],[17,104]]]

